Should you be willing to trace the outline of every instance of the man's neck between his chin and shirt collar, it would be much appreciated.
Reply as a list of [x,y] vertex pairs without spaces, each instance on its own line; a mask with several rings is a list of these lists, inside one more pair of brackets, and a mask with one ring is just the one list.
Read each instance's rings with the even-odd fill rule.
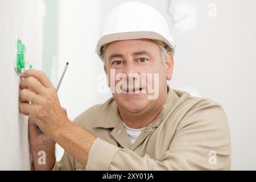
[[146,109],[138,113],[130,113],[129,111],[123,111],[119,108],[119,114],[126,126],[132,129],[141,129],[149,125],[156,117],[158,117],[163,109],[163,105],[166,104],[166,101],[167,92],[163,94],[162,100],[155,106],[149,105],[148,107],[150,108],[146,107]]

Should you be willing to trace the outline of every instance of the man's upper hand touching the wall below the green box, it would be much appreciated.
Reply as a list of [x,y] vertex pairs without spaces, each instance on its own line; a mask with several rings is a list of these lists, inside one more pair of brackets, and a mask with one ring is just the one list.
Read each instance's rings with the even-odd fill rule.
[[[49,134],[68,121],[61,109],[55,87],[42,71],[28,70],[20,75],[20,113],[29,115],[31,120]],[[29,102],[29,103],[28,103]]]

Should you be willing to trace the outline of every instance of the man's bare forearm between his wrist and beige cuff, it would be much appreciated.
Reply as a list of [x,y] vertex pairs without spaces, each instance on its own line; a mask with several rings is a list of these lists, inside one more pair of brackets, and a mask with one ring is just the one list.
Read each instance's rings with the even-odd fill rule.
[[94,135],[76,123],[72,123],[68,118],[67,122],[48,134],[73,158],[86,166],[90,147],[96,139]]

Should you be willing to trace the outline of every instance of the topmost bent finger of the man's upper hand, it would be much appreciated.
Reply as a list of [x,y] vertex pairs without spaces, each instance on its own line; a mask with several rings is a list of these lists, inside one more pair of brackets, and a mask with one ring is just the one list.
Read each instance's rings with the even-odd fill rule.
[[20,74],[21,77],[23,78],[27,78],[27,77],[34,77],[36,78],[43,86],[45,86],[46,88],[52,88],[53,85],[51,83],[51,81],[49,81],[48,77],[46,76],[46,74],[44,74],[44,72],[42,71],[37,71],[37,70],[33,70],[33,69],[28,69],[25,72],[22,72]]

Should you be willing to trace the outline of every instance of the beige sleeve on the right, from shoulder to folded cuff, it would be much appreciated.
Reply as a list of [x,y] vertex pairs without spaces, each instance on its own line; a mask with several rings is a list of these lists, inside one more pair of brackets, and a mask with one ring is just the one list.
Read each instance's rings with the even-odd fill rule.
[[224,110],[220,105],[207,103],[181,119],[162,158],[152,159],[147,154],[141,157],[97,138],[86,170],[229,170],[230,153]]

